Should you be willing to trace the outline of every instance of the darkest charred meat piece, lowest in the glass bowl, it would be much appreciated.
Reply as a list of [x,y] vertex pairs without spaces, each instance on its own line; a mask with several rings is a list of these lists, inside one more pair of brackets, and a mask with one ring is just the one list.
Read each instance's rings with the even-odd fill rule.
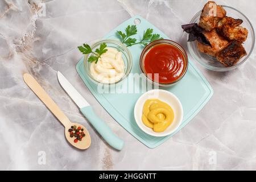
[[245,48],[236,40],[230,42],[226,47],[222,48],[217,54],[217,60],[224,64],[225,67],[232,67],[243,56],[247,55]]

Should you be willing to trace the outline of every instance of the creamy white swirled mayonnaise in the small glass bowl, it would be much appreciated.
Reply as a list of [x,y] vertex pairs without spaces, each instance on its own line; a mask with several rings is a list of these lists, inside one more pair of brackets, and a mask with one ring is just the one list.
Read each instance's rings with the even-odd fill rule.
[[106,47],[107,52],[98,59],[97,64],[90,64],[90,75],[102,84],[112,84],[119,81],[125,74],[125,63],[122,52],[112,47]]

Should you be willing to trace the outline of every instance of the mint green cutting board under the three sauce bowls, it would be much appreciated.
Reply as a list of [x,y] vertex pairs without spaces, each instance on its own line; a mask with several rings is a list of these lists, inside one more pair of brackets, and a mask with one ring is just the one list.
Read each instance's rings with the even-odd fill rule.
[[[135,38],[141,39],[144,30],[147,28],[153,28],[154,32],[160,34],[162,38],[169,39],[163,34],[163,32],[158,30],[158,28],[147,22],[147,20],[143,19],[141,16],[134,16],[129,20],[126,20],[126,22],[120,24],[103,39],[118,39],[117,36],[115,36],[115,32],[117,30],[124,31],[128,25],[134,24],[134,19],[137,18],[141,20],[141,23],[137,24],[138,34],[134,36]],[[141,55],[143,47],[140,45],[135,45],[129,47],[129,49],[133,56],[133,67],[131,69],[131,73],[141,73],[141,69],[139,67],[139,56]],[[207,104],[210,97],[213,95],[213,89],[209,85],[208,81],[200,73],[199,69],[197,69],[191,61],[189,61],[188,71],[183,79],[171,88],[164,88],[165,90],[174,93],[181,101],[184,109],[183,122],[175,133],[172,133],[167,137],[152,137],[139,129],[133,115],[134,105],[142,93],[99,94],[97,92],[97,85],[93,84],[93,82],[89,80],[84,72],[83,58],[79,61],[79,63],[77,63],[76,69],[85,85],[89,88],[90,92],[93,93],[94,97],[98,100],[98,102],[100,102],[106,111],[112,115],[115,121],[117,121],[131,135],[150,148],[159,146],[161,143],[171,138],[173,135],[175,135],[175,133],[177,133],[177,131],[187,125],[187,123],[191,121],[191,119],[195,117],[197,113],[199,113],[204,105]]]

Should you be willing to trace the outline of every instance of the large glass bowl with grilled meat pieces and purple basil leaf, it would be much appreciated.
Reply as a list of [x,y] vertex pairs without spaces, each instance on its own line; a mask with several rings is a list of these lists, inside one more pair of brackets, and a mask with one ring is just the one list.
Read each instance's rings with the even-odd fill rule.
[[[216,9],[211,9],[214,6]],[[183,29],[188,33],[189,53],[212,71],[231,71],[245,63],[253,52],[254,28],[233,7],[208,2]]]

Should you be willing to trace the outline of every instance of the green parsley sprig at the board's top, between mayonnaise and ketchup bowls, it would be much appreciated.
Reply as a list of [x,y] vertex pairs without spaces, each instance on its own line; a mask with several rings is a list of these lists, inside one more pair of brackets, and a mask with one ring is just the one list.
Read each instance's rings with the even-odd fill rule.
[[130,37],[137,34],[137,27],[135,25],[127,26],[125,28],[125,32],[117,31],[116,33],[121,39],[121,42],[129,47],[135,44],[142,44],[143,46],[147,46],[148,43],[153,42],[154,40],[163,39],[159,34],[153,34],[153,32],[154,30],[152,28],[147,28],[147,30],[143,33],[142,39],[138,42],[137,39]]

